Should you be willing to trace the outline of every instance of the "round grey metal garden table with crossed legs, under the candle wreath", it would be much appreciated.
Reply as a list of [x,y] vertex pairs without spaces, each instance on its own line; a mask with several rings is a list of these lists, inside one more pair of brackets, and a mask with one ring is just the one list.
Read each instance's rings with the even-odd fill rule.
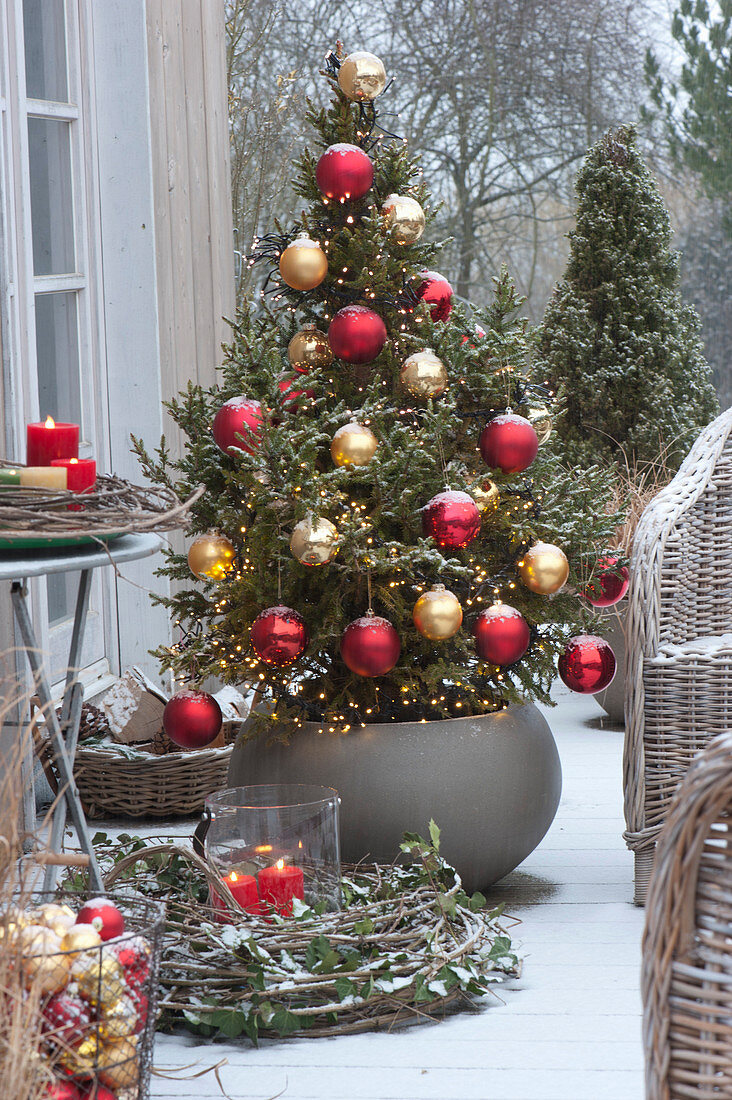
[[[51,853],[59,854],[66,827],[66,813],[76,828],[81,849],[89,857],[89,880],[94,890],[103,892],[103,883],[99,865],[91,845],[79,792],[74,782],[74,757],[81,722],[81,704],[84,690],[78,680],[81,645],[87,612],[89,609],[89,591],[91,588],[91,571],[101,565],[110,565],[124,561],[136,561],[148,558],[160,550],[162,540],[157,535],[123,535],[119,539],[100,547],[98,543],[88,547],[66,546],[52,547],[48,550],[2,550],[0,551],[0,581],[11,582],[11,596],[15,619],[28,657],[35,691],[41,704],[46,727],[53,746],[54,765],[58,772],[58,789],[63,799],[58,799],[53,813]],[[68,652],[66,683],[62,696],[61,717],[51,697],[51,686],[43,666],[41,648],[37,644],[33,624],[29,613],[26,581],[31,576],[47,576],[51,573],[79,572],[79,587],[76,596],[74,628]],[[44,892],[52,892],[58,868],[47,864],[43,876]]]

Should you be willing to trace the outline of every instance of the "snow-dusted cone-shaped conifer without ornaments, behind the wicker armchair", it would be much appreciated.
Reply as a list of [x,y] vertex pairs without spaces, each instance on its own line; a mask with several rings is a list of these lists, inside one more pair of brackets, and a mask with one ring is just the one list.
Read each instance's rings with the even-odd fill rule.
[[668,212],[631,127],[605,134],[576,184],[569,261],[539,330],[570,462],[677,466],[718,410],[696,310],[678,292]]

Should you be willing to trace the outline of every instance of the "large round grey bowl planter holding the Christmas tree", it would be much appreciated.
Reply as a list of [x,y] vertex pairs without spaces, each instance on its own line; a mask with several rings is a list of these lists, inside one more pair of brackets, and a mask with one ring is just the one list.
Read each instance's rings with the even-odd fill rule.
[[[466,890],[517,867],[559,805],[561,766],[544,716],[532,703],[496,714],[318,733],[306,723],[289,745],[264,735],[240,740],[229,787],[320,783],[341,796],[341,858],[391,862],[402,834],[441,829],[440,851]],[[244,734],[247,724],[244,724]]]

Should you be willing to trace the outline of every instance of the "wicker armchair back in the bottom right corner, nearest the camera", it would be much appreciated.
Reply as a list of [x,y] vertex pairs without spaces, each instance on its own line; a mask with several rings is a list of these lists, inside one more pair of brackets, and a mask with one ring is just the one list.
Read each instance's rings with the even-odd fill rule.
[[690,765],[658,837],[641,987],[646,1100],[732,1097],[732,734]]

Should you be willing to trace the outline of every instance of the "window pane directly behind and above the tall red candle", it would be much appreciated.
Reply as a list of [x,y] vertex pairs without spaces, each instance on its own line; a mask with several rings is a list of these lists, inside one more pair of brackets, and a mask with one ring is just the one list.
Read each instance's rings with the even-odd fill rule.
[[79,333],[76,292],[35,296],[35,349],[39,362],[39,411],[41,419],[79,424]]

